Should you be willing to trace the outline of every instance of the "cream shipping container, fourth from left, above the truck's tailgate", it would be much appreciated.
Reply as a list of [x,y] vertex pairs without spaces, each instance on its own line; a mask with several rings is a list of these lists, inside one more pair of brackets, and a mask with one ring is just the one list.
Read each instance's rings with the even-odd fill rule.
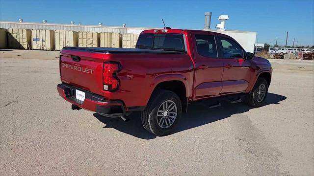
[[55,31],[55,50],[60,51],[64,46],[78,46],[78,32],[75,31]]

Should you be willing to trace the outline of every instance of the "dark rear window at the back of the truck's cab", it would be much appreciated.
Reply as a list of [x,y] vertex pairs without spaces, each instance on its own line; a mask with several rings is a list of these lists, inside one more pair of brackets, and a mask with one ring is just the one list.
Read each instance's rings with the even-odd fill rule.
[[184,39],[181,34],[142,34],[135,48],[185,52]]

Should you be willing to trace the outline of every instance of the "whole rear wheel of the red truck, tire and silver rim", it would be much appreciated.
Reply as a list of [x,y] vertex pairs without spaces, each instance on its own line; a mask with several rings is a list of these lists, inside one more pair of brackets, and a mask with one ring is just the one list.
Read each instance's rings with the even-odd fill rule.
[[182,104],[178,95],[168,90],[157,90],[142,111],[142,123],[147,131],[163,136],[172,132],[181,114]]

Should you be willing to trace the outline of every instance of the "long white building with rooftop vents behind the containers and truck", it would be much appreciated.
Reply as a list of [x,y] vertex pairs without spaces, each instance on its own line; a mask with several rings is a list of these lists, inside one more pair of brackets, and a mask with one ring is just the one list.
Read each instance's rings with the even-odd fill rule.
[[[228,15],[219,16],[220,24],[216,25],[217,30],[210,29],[211,13],[205,12],[205,28],[203,30],[209,30],[212,32],[218,32],[226,34],[234,38],[247,52],[254,52],[254,44],[256,41],[256,32],[250,31],[236,31],[226,30],[225,23],[229,19]],[[72,30],[72,31],[91,31],[91,32],[117,32],[120,34],[139,34],[143,30],[156,29],[160,27],[128,27],[126,24],[121,26],[103,26],[100,22],[99,25],[82,25],[75,22],[69,24],[56,24],[44,21],[39,22],[0,22],[0,28],[23,28],[23,29],[49,29],[49,30]],[[200,29],[202,30],[202,29]]]

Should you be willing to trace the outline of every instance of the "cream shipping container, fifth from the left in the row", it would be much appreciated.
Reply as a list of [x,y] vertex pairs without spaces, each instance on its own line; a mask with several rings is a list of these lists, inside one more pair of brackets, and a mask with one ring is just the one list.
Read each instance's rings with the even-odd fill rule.
[[79,31],[78,47],[99,47],[99,33]]

